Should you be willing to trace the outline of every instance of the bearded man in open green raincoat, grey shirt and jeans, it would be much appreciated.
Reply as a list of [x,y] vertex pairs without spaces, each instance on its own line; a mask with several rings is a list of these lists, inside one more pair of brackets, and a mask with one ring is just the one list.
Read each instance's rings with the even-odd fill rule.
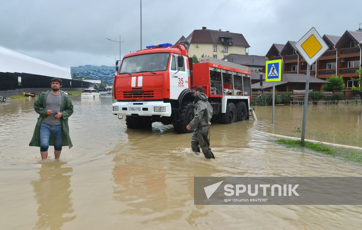
[[68,127],[68,117],[73,113],[72,101],[60,91],[62,79],[53,78],[50,85],[51,90],[40,94],[34,102],[35,112],[40,116],[29,143],[29,146],[40,147],[42,160],[48,158],[50,145],[54,146],[55,159],[59,159],[62,146],[73,146]]

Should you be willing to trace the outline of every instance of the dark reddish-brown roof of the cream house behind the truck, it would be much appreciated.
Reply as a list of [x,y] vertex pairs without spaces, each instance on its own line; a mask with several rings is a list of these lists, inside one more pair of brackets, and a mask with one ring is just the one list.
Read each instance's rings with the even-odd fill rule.
[[226,36],[234,38],[233,45],[239,45],[244,47],[250,47],[247,40],[242,34],[220,31],[220,30],[194,30],[186,38],[189,43],[210,43],[210,44],[222,44],[220,36]]

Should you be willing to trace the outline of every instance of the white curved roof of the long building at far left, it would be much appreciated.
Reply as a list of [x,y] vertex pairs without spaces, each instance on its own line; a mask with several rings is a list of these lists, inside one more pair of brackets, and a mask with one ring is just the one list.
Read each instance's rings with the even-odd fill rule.
[[72,79],[70,71],[62,66],[31,57],[1,45],[0,72],[28,73],[48,77]]

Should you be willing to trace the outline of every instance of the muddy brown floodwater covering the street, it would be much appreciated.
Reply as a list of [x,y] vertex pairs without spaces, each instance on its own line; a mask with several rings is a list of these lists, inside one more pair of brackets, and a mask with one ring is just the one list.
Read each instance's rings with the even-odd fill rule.
[[[361,165],[274,143],[300,137],[303,107],[256,107],[258,121],[211,125],[216,160],[191,153],[192,134],[153,123],[127,130],[112,98],[71,96],[73,148],[41,162],[29,147],[34,99],[0,104],[0,229],[360,229],[361,205],[194,205],[193,177],[362,176]],[[361,105],[311,106],[306,138],[362,147]],[[301,129],[301,127],[300,127]],[[358,227],[359,226],[359,227]]]

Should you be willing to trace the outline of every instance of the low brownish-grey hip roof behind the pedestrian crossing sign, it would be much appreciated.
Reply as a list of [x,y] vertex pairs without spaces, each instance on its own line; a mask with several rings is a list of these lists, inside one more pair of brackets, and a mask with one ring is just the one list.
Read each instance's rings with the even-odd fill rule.
[[[306,83],[306,79],[307,79],[307,75],[305,75],[305,74],[285,73],[285,74],[283,74],[283,81],[275,82],[275,86],[278,86],[281,84],[286,84],[288,82]],[[309,81],[310,81],[310,83],[319,83],[319,84],[325,84],[325,83],[328,84],[329,83],[327,81],[324,81],[322,79],[315,78],[315,77],[310,77]],[[270,88],[270,87],[273,87],[273,82],[263,81],[262,86],[260,86],[260,82],[254,83],[251,85],[251,88],[253,88],[253,89],[265,89],[265,88]]]

